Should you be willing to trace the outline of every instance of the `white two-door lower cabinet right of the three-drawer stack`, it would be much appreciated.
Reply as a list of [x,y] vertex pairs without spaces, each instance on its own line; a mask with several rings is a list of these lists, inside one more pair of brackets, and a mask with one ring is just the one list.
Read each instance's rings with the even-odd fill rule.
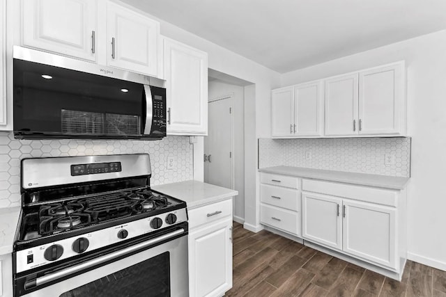
[[[303,179],[302,237],[352,257],[399,270],[398,239],[405,199],[397,191]],[[306,190],[306,191],[305,191]],[[311,193],[307,191],[318,191]],[[369,194],[374,191],[372,199]],[[334,195],[343,195],[342,198]],[[361,201],[362,200],[362,201]],[[380,205],[374,203],[377,200]],[[401,204],[401,205],[399,205]],[[400,243],[402,245],[403,243]]]

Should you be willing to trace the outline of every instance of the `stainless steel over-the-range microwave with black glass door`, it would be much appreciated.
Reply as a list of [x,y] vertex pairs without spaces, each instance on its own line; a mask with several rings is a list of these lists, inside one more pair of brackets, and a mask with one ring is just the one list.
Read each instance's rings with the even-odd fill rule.
[[13,58],[15,138],[166,136],[164,81],[23,47]]

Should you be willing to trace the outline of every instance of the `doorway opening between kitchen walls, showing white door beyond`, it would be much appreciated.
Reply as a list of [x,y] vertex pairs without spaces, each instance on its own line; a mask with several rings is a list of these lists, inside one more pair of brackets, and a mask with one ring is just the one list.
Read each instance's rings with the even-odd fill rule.
[[204,182],[233,188],[233,219],[245,221],[245,87],[249,81],[208,70],[208,136]]

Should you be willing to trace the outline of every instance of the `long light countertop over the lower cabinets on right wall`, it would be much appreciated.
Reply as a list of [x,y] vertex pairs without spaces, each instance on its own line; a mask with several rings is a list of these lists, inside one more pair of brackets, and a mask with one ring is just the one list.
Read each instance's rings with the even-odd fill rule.
[[330,182],[344,182],[346,184],[391,188],[393,190],[403,189],[409,180],[408,177],[390,177],[387,175],[369,175],[366,173],[321,170],[292,166],[260,168],[259,171],[277,173],[280,175],[292,175],[295,177],[305,177],[309,179],[322,179]]

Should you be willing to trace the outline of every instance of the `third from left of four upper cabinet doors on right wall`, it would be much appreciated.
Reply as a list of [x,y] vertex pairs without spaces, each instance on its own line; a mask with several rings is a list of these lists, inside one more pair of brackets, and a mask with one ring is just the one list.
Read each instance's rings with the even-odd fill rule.
[[357,134],[357,74],[325,81],[325,135]]

